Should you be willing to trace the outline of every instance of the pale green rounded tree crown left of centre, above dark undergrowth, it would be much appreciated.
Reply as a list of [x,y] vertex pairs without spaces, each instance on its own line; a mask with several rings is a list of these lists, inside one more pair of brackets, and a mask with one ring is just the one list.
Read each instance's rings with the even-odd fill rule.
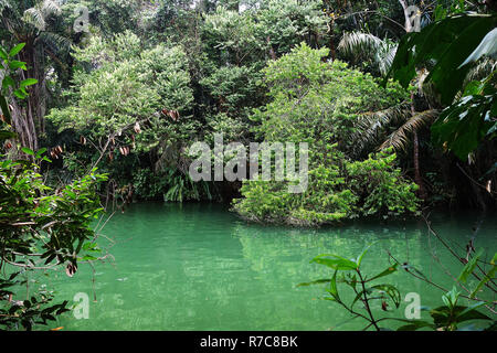
[[[178,159],[181,146],[199,129],[189,115],[193,94],[184,52],[180,46],[144,45],[126,31],[108,41],[93,36],[84,49],[75,49],[81,66],[68,93],[72,105],[47,116],[59,132],[81,136],[70,150],[80,163],[106,160],[105,169],[119,186],[139,179],[136,173],[147,157],[156,162]],[[81,172],[85,170],[76,168],[76,175]],[[161,173],[159,169],[156,176]]]

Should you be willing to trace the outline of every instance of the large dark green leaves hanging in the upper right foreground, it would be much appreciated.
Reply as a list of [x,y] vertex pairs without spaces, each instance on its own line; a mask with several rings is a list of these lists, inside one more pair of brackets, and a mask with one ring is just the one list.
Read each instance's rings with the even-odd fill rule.
[[[496,21],[495,14],[463,14],[435,22],[404,36],[392,64],[391,75],[403,86],[416,68],[430,68],[425,84],[448,105],[433,126],[433,139],[462,160],[467,160],[484,138],[491,139],[497,127],[493,75],[466,85],[470,64],[485,55],[495,56]],[[459,92],[462,98],[456,97]]]

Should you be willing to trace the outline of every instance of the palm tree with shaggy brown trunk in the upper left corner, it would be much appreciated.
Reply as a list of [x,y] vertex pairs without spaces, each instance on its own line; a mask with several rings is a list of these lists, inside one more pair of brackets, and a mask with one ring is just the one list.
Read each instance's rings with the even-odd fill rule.
[[36,150],[38,137],[45,128],[46,58],[60,62],[61,53],[71,47],[71,41],[65,36],[47,31],[49,19],[61,13],[61,1],[0,0],[0,33],[9,34],[4,35],[10,38],[9,44],[25,43],[19,58],[27,63],[28,71],[20,73],[20,78],[36,78],[39,82],[32,86],[25,103],[11,99],[12,125],[21,145]]

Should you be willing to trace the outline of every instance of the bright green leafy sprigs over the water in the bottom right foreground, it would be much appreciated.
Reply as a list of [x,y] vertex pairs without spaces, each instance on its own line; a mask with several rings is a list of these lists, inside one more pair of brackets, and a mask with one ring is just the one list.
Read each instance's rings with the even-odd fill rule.
[[[415,271],[421,276],[424,275],[410,265],[393,263],[383,271],[373,276],[367,276],[363,272],[361,265],[371,246],[372,245],[367,246],[356,258],[346,258],[334,254],[324,254],[315,257],[311,263],[331,268],[334,270],[332,277],[330,279],[318,279],[311,282],[300,284],[298,286],[306,287],[327,284],[326,291],[329,296],[326,296],[322,299],[334,301],[350,312],[353,318],[361,318],[367,321],[368,324],[363,330],[368,330],[369,328],[373,328],[378,331],[390,330],[390,328],[384,327],[384,322],[389,320],[404,323],[396,329],[398,331],[415,331],[420,329],[431,329],[437,331],[468,330],[472,328],[470,325],[461,327],[463,323],[467,323],[468,321],[490,322],[486,330],[495,330],[496,321],[477,310],[485,304],[488,304],[488,302],[475,300],[475,302],[470,306],[458,304],[458,301],[461,301],[461,292],[458,292],[455,287],[442,296],[444,306],[434,309],[423,308],[424,310],[430,311],[430,317],[432,319],[431,322],[425,320],[408,320],[384,315],[381,317],[376,309],[381,308],[383,312],[392,311],[389,308],[399,309],[402,296],[400,290],[394,285],[387,282],[378,284],[378,279],[383,279],[387,276],[395,274],[399,270],[399,267],[402,267],[406,271]],[[478,257],[474,257],[472,261],[463,268],[458,278],[459,281],[465,281],[467,276],[473,272]],[[497,267],[495,265],[495,260],[496,257],[494,257],[491,263],[493,267],[487,277],[491,277],[495,272]],[[343,288],[339,286],[340,284],[343,285]],[[479,285],[478,287],[480,288]],[[346,288],[352,290],[351,297],[348,296]],[[346,298],[353,299],[350,301]],[[378,302],[380,304],[377,304]],[[362,308],[357,308],[357,303],[362,303]],[[419,309],[421,310],[422,308]]]

